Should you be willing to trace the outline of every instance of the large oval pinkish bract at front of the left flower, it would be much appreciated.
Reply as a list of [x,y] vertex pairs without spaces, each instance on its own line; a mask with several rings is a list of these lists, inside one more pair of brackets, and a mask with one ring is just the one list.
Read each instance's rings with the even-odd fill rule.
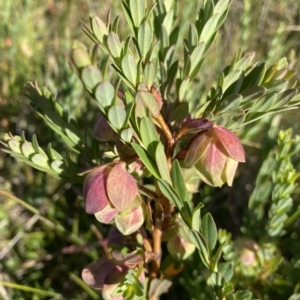
[[127,172],[125,163],[116,164],[107,178],[109,200],[119,211],[129,208],[138,193],[135,179]]

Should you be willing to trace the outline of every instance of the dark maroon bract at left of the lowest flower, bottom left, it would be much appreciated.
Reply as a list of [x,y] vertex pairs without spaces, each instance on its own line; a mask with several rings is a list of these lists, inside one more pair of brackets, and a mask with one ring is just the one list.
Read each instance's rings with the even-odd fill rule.
[[113,261],[102,258],[86,266],[82,270],[81,277],[87,285],[95,289],[102,289],[108,273],[114,267]]

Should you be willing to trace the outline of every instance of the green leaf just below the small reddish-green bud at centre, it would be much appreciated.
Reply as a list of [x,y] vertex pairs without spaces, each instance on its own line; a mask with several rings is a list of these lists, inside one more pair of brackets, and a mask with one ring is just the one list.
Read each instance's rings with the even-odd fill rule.
[[159,138],[156,128],[150,118],[143,118],[140,123],[140,135],[145,149],[151,157],[155,157]]

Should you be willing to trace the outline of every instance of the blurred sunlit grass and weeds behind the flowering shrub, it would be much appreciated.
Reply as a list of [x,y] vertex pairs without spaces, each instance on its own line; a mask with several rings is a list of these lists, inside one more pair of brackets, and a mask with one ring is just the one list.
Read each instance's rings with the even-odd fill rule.
[[[179,2],[183,8],[182,23],[188,30],[189,18],[197,12],[201,0]],[[42,147],[51,141],[55,149],[67,155],[66,148],[33,113],[22,95],[23,84],[30,80],[37,80],[40,86],[47,85],[57,94],[57,101],[79,120],[81,128],[91,131],[97,109],[72,74],[67,54],[76,39],[87,45],[90,43],[81,31],[80,21],[88,23],[88,15],[92,12],[105,18],[109,9],[113,16],[121,14],[119,1],[0,2],[0,139],[6,132],[21,135],[25,131],[29,140],[36,134]],[[291,62],[290,68],[297,70],[299,40],[300,3],[297,1],[276,1],[274,4],[271,0],[235,0],[202,68],[199,89],[195,92],[201,95],[208,91],[239,48],[255,51],[257,60],[269,64],[286,56]],[[297,76],[299,80],[300,72]],[[263,120],[252,131],[248,130],[243,137],[247,164],[240,168],[234,187],[217,190],[213,197],[211,189],[200,190],[202,201],[212,212],[218,227],[231,232],[234,238],[243,236],[240,226],[249,218],[248,200],[255,178],[276,144],[278,129],[291,127],[294,135],[299,134],[299,116],[295,112],[286,113],[273,120]],[[255,143],[251,142],[253,136]],[[299,170],[299,155],[294,157],[293,163]],[[100,228],[93,216],[84,213],[82,198],[76,191],[2,152],[0,189],[0,298],[100,299],[100,295],[84,285],[79,277],[82,268],[99,256],[100,231],[105,232],[106,228]],[[299,192],[299,189],[294,192],[298,205]],[[295,224],[289,236],[299,232],[300,224]],[[253,239],[257,230],[254,225]],[[282,241],[281,250],[287,257],[293,256],[293,251],[300,251],[298,236],[294,235],[293,240],[292,250],[291,244]],[[191,261],[190,265],[195,263]],[[192,299],[191,291],[195,286],[191,281],[197,282],[197,274],[192,272],[193,269],[187,267],[170,294],[164,297]],[[299,278],[300,273],[293,276]],[[291,290],[293,285],[289,290],[288,285],[280,289],[286,282],[280,284],[275,289],[267,284],[257,286],[256,297],[275,299],[276,295],[276,299],[287,299],[295,292]],[[201,295],[200,289],[197,292]]]

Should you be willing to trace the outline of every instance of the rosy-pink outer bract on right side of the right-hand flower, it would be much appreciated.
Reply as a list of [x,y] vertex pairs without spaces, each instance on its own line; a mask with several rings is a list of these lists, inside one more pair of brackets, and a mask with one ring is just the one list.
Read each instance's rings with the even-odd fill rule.
[[234,133],[226,128],[218,126],[215,126],[212,130],[220,140],[225,151],[232,159],[238,162],[245,162],[244,148]]

